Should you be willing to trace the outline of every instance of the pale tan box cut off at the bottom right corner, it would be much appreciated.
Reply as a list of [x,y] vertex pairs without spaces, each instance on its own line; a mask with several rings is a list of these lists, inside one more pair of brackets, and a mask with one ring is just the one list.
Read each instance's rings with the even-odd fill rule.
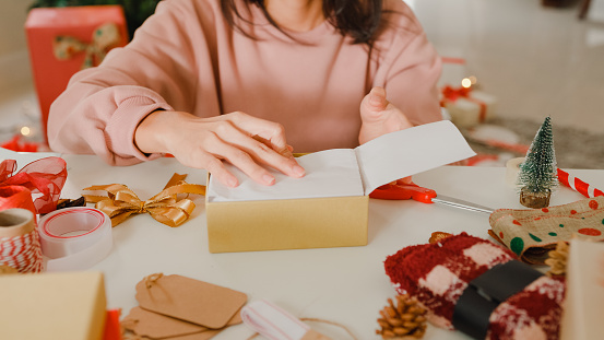
[[604,339],[604,243],[570,241],[560,339]]

